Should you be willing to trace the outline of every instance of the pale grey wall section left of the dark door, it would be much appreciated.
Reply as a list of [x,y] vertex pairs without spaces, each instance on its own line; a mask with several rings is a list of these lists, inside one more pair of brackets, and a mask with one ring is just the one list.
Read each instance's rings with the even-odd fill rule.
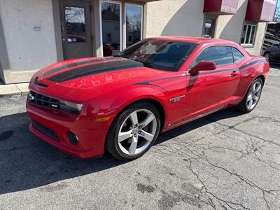
[[0,16],[11,71],[57,62],[52,0],[0,0]]

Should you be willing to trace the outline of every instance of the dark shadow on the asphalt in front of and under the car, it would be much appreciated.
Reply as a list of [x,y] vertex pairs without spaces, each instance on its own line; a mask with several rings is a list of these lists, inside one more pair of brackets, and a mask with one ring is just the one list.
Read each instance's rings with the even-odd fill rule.
[[[161,134],[156,144],[221,118],[240,114],[232,109],[219,111]],[[107,153],[99,159],[82,160],[57,151],[29,132],[26,113],[0,118],[0,194],[37,188],[123,164],[125,162]]]

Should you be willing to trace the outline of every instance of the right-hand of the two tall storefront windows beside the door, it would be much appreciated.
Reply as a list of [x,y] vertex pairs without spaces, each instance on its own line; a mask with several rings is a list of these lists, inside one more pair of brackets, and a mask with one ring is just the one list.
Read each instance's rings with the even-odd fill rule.
[[125,5],[126,47],[142,38],[142,6]]

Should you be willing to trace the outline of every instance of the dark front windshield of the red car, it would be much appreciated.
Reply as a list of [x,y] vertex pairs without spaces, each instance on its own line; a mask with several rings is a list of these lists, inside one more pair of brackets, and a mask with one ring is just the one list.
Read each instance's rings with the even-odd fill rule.
[[153,69],[178,71],[196,46],[187,42],[144,39],[116,56],[136,60]]

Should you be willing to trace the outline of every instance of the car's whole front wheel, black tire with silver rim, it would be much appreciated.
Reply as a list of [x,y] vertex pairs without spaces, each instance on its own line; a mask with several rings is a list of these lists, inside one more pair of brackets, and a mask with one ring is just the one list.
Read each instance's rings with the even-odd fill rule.
[[160,133],[160,113],[153,104],[132,104],[113,121],[106,137],[106,149],[120,160],[140,158]]

